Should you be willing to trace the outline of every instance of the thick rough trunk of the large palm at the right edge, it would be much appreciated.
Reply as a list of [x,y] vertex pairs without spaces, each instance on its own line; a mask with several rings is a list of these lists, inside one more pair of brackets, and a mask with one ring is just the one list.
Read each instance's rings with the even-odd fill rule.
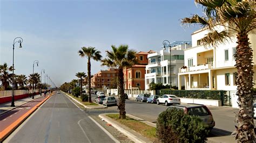
[[237,34],[238,46],[236,65],[238,70],[237,96],[239,112],[237,115],[237,137],[239,142],[255,141],[254,123],[253,123],[253,65],[252,65],[252,48],[249,47],[248,34],[241,32]]

